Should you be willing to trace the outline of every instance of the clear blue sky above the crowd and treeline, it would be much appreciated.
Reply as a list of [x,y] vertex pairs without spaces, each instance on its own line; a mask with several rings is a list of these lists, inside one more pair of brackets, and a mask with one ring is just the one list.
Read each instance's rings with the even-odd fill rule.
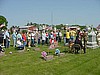
[[0,0],[8,27],[38,24],[100,24],[100,0]]

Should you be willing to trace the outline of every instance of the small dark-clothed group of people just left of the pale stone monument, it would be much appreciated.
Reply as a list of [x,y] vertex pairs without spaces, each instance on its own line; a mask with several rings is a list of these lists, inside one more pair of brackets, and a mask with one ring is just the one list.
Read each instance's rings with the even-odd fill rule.
[[[75,40],[73,40],[74,38]],[[83,30],[83,31],[78,30],[76,32],[76,36],[73,36],[73,39],[72,39],[72,36],[70,36],[70,39],[68,39],[70,48],[75,47],[75,45],[77,45],[75,47],[75,49],[77,50],[75,53],[78,53],[80,48],[83,49],[84,53],[86,53],[86,44],[88,40],[87,38],[88,38],[88,33],[86,32],[86,30]]]

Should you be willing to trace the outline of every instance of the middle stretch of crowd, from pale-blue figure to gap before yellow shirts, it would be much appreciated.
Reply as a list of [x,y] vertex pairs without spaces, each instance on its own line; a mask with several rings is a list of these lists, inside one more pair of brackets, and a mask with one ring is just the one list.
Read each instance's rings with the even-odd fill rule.
[[[62,33],[59,31],[32,31],[32,32],[18,32],[13,31],[12,34],[13,46],[16,47],[17,45],[23,46],[26,45],[28,47],[42,45],[51,45],[55,42],[61,42],[62,40]],[[20,43],[19,43],[20,41]]]

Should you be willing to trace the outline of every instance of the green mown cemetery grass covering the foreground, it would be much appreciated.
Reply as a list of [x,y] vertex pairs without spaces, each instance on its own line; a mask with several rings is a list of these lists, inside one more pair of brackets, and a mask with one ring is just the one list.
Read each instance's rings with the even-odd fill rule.
[[[58,49],[65,52],[62,57],[54,56],[52,60],[45,61],[41,52],[48,52],[48,46],[38,46],[18,52],[14,47],[6,49],[5,55],[0,57],[0,75],[100,75],[100,48],[87,49],[86,54],[68,53],[68,47],[60,44]],[[9,54],[9,52],[12,54]],[[55,49],[49,50],[54,55]]]

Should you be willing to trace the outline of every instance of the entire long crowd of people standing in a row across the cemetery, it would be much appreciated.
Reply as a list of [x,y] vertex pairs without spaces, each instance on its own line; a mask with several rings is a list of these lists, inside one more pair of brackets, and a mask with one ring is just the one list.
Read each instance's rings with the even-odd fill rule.
[[[70,42],[74,44],[79,44],[84,53],[86,53],[86,42],[87,42],[87,32],[85,30],[66,30],[64,34],[60,30],[56,31],[32,31],[32,32],[16,32],[13,30],[13,34],[10,36],[8,30],[4,32],[4,46],[5,48],[10,47],[10,38],[13,40],[13,47],[18,47],[25,49],[25,46],[33,47],[42,45],[52,45],[58,44],[59,42],[64,41],[64,45]],[[82,41],[84,42],[82,44]]]

